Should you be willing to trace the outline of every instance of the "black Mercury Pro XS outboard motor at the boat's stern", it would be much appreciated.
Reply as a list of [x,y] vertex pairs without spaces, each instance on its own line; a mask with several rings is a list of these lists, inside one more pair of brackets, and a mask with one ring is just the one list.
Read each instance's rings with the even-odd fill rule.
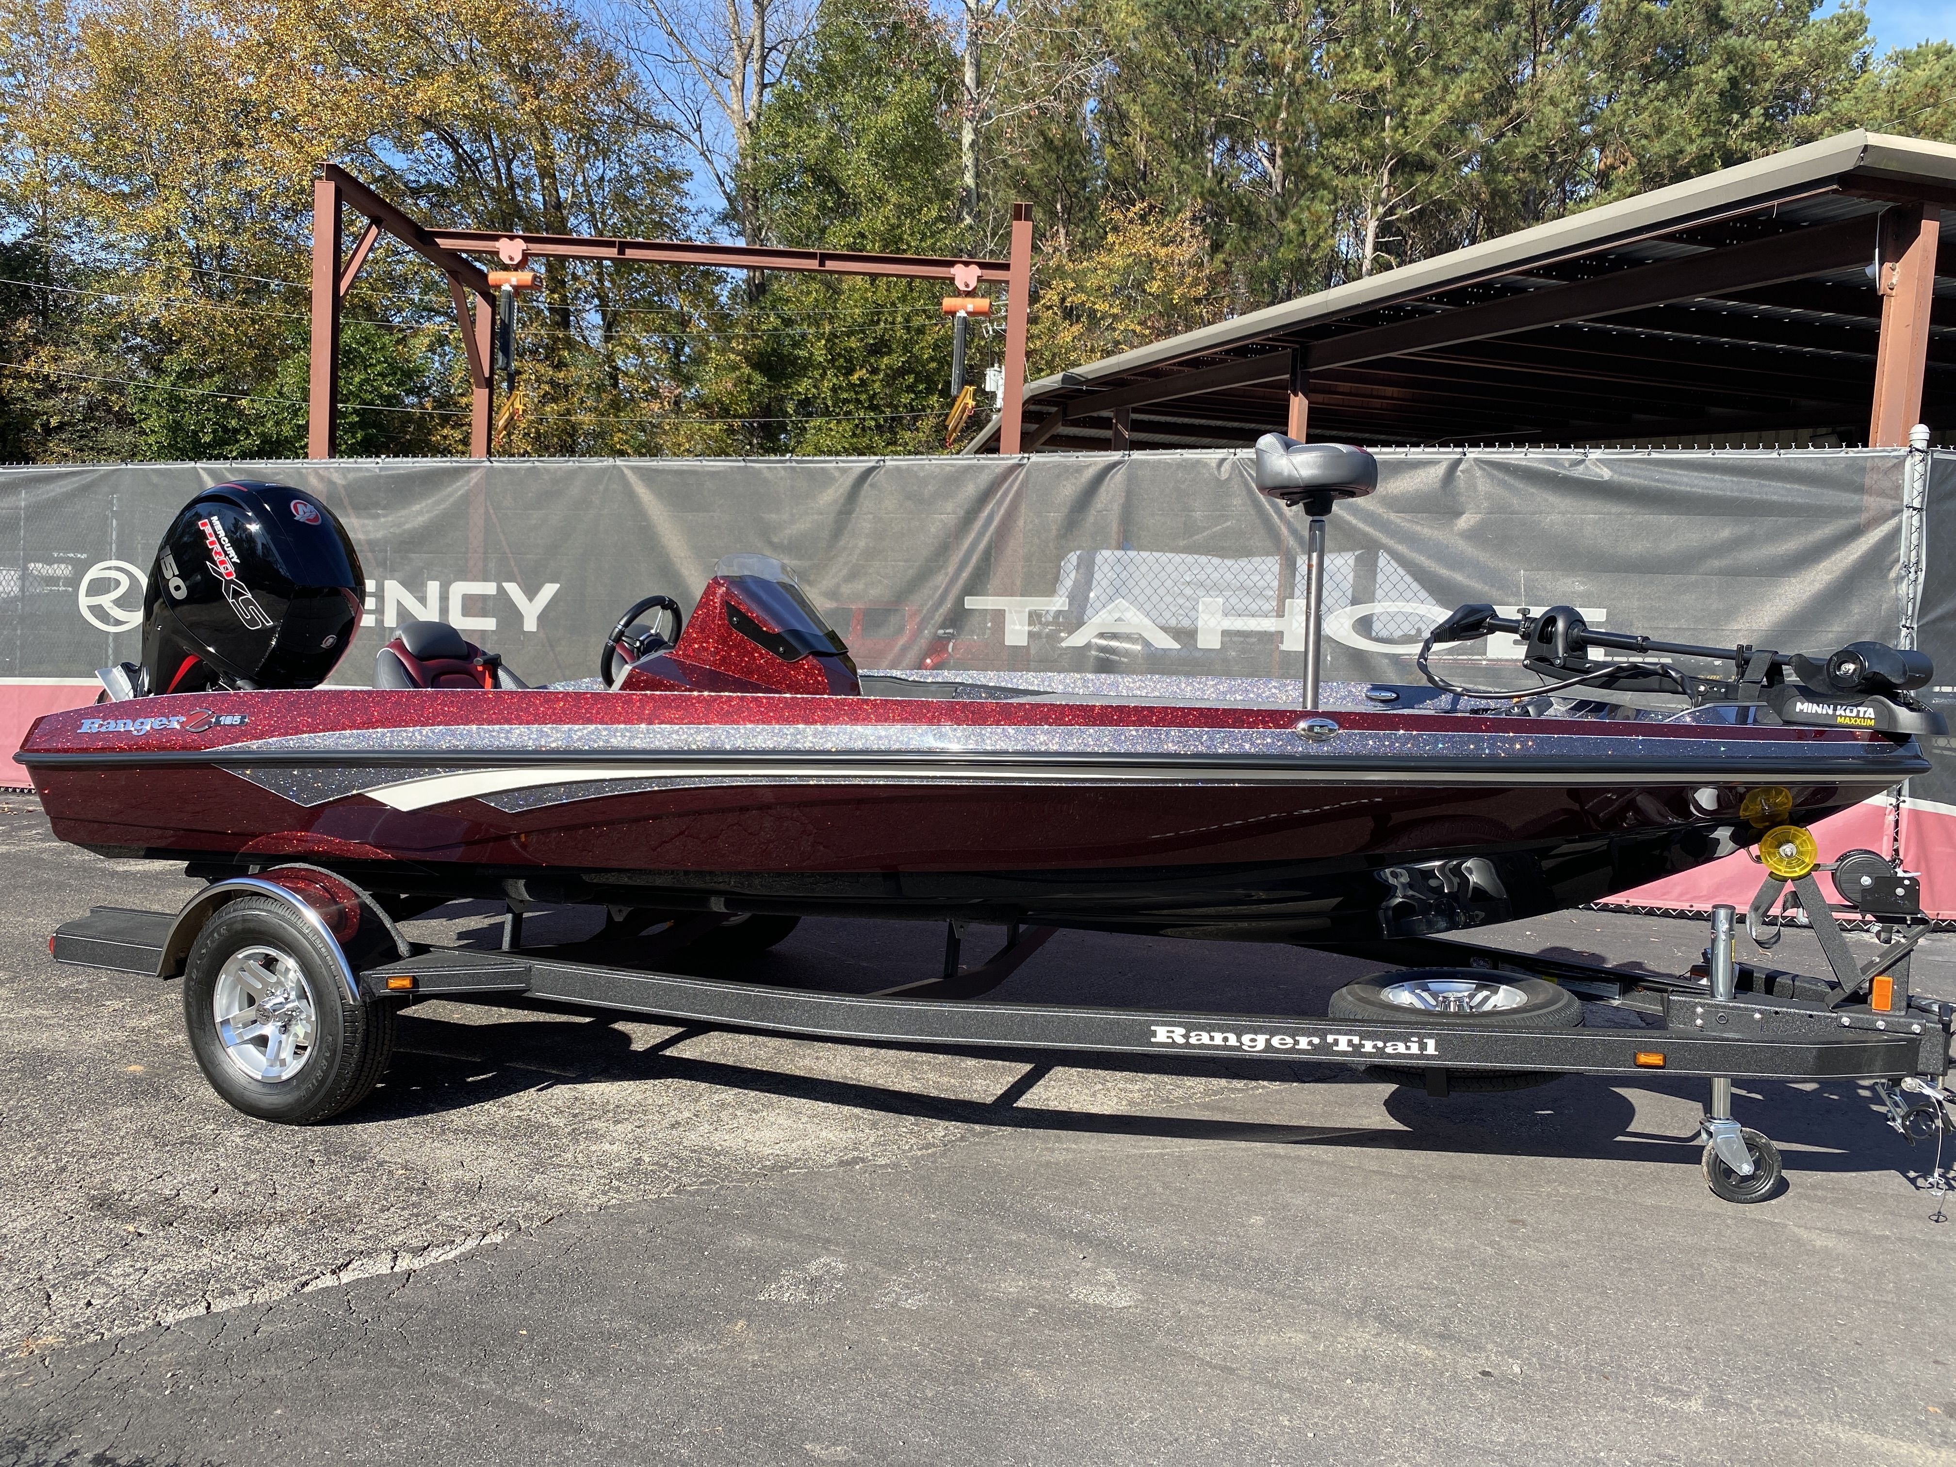
[[205,489],[156,548],[141,692],[317,687],[360,628],[364,589],[352,540],[313,495]]

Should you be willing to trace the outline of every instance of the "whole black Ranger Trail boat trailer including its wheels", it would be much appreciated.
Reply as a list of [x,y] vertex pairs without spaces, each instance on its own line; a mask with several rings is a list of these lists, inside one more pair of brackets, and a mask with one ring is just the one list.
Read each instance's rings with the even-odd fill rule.
[[[205,1076],[237,1109],[260,1119],[313,1123],[358,1103],[385,1070],[393,1013],[442,998],[571,1005],[857,1045],[1045,1052],[1074,1062],[1123,1056],[1123,1064],[1168,1070],[1228,1058],[1238,1074],[1267,1068],[1271,1080],[1293,1076],[1297,1062],[1334,1062],[1424,1084],[1430,1095],[1557,1074],[1702,1078],[1712,1082],[1700,1131],[1706,1178],[1727,1201],[1762,1201],[1780,1187],[1780,1156],[1733,1117],[1731,1082],[1864,1082],[1897,1133],[1911,1142],[1940,1138],[1956,1131],[1956,1093],[1944,1088],[1956,1003],[1909,992],[1909,958],[1929,931],[1915,876],[1870,851],[1815,863],[1811,837],[1798,827],[1768,831],[1760,851],[1768,874],[1745,913],[1753,941],[1770,947],[1780,923],[1798,911],[1819,937],[1831,978],[1737,960],[1739,913],[1719,906],[1704,964],[1676,976],[1455,937],[1324,949],[1436,964],[1340,990],[1334,1017],[986,1000],[1052,927],[1011,927],[992,960],[964,968],[964,923],[951,923],[937,978],[878,994],[810,992],[657,970],[737,911],[673,917],[663,931],[632,939],[622,964],[589,960],[589,945],[524,947],[516,906],[501,949],[428,947],[411,943],[374,894],[307,865],[217,880],[174,915],[94,908],[59,927],[49,951],[65,964],[182,976],[190,1039]],[[1833,872],[1850,900],[1829,904],[1815,882],[1819,870]],[[1874,956],[1854,956],[1835,911],[1874,923]],[[618,913],[608,927],[616,923]],[[1357,988],[1367,988],[1373,1007],[1336,1017],[1340,996]],[[1530,988],[1559,1005],[1559,1023],[1532,1025]],[[1580,1005],[1565,996],[1637,1017],[1582,1027]],[[327,1001],[333,998],[338,1001]],[[315,1054],[321,1064],[305,1076]],[[1938,1146],[1931,1187],[1942,1185]]]

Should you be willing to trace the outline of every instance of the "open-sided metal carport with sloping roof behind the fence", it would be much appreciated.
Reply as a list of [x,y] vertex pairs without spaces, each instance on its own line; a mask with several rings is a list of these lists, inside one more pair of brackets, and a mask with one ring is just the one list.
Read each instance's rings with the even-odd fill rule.
[[1903,446],[1956,407],[1952,241],[1956,147],[1841,133],[1043,378],[1023,444]]

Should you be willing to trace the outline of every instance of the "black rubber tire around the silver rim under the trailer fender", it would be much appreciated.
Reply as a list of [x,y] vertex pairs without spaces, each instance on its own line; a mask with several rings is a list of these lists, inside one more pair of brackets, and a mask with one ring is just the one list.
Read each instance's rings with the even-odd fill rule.
[[[225,966],[250,949],[289,958],[309,1007],[303,1062],[286,1078],[254,1078],[219,1033],[215,998]],[[231,982],[231,980],[227,980]],[[260,1009],[254,1009],[260,1011]],[[319,1125],[352,1109],[374,1089],[393,1054],[395,1005],[354,1003],[327,941],[284,902],[244,896],[219,908],[184,964],[184,1027],[211,1089],[233,1109],[282,1125]]]

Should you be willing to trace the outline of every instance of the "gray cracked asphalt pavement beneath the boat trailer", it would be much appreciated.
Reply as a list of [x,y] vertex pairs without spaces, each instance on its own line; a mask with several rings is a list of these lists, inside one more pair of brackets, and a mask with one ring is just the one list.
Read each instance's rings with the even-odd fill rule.
[[[1852,1084],[1737,1088],[1790,1185],[1735,1207],[1702,1082],[1430,1099],[430,1001],[366,1105],[282,1129],[203,1082],[174,984],[47,956],[180,868],[18,796],[0,861],[0,1463],[1956,1463],[1956,1222]],[[1667,970],[1704,931],[1485,939]],[[741,972],[867,992],[941,945],[804,921]],[[1320,1011],[1373,970],[1062,933],[1000,998]]]

